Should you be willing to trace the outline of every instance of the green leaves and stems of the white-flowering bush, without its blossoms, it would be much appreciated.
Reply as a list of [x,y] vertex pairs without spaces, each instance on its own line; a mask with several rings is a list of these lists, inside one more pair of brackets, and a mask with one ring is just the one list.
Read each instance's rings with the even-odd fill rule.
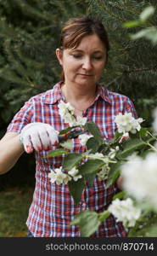
[[[125,117],[128,118],[128,115]],[[68,182],[70,195],[72,196],[76,205],[78,205],[81,202],[81,194],[83,192],[83,189],[86,189],[86,186],[89,186],[89,187],[93,186],[93,182],[95,180],[96,175],[98,175],[97,177],[98,179],[106,180],[106,188],[108,189],[109,186],[114,185],[117,181],[117,178],[120,177],[122,165],[127,161],[128,162],[132,161],[130,157],[131,156],[133,157],[133,154],[137,154],[138,156],[141,156],[143,158],[143,155],[144,154],[147,155],[148,152],[150,151],[156,153],[154,142],[157,140],[157,135],[152,134],[150,132],[151,131],[150,128],[141,128],[139,124],[143,120],[137,119],[136,120],[137,123],[139,122],[137,126],[136,125],[132,126],[130,121],[131,120],[128,120],[128,119],[127,121],[126,119],[123,119],[123,121],[119,119],[119,121],[117,120],[118,123],[116,125],[121,126],[121,122],[123,122],[123,125],[125,126],[126,123],[128,122],[129,126],[127,127],[125,126],[126,127],[125,129],[128,129],[128,127],[130,127],[129,131],[132,131],[132,127],[133,127],[133,134],[132,132],[130,132],[129,137],[127,137],[125,141],[121,140],[123,133],[119,132],[121,131],[121,129],[119,130],[120,127],[118,126],[118,130],[115,132],[115,137],[113,137],[113,139],[109,141],[109,143],[103,140],[103,138],[101,137],[101,133],[98,129],[98,126],[95,125],[92,121],[87,122],[85,125],[80,125],[80,128],[82,131],[91,133],[93,135],[93,137],[89,137],[87,139],[87,143],[86,143],[87,151],[82,154],[70,153],[70,152],[68,153],[68,151],[66,151],[66,155],[64,156],[64,159],[62,162],[63,168],[67,170],[66,175],[68,176],[69,174],[72,175],[68,171],[72,171],[71,169],[74,167],[77,170],[76,177],[78,175],[81,175],[81,177],[78,179],[73,179],[72,178],[73,176],[72,176],[70,181]],[[132,119],[132,122],[134,121]],[[72,131],[71,129],[70,130],[66,129],[64,130],[64,133],[66,131],[67,133],[69,133],[70,131],[70,133],[73,132],[73,135],[75,136],[75,129],[78,128],[78,126],[73,126],[71,128],[73,128],[74,131]],[[126,131],[123,131],[123,132],[126,132]],[[62,131],[60,133],[62,133]],[[78,133],[78,136],[79,136],[79,133]],[[91,141],[91,139],[93,140]],[[88,141],[90,141],[90,143],[88,143]],[[95,148],[93,147],[93,143],[94,144],[96,143],[97,145],[97,149],[98,149],[97,152],[94,151]],[[106,148],[108,149],[106,150]],[[62,153],[62,149],[63,148],[60,148],[60,154]],[[52,155],[58,155],[58,154],[59,154],[59,148],[52,152]],[[52,155],[48,154],[47,157]],[[100,172],[102,171],[103,171],[103,177],[100,174]],[[55,170],[53,170],[53,172],[55,173]],[[132,197],[132,196],[127,195],[126,191],[124,190],[124,191],[121,191],[120,193],[117,193],[115,196],[113,196],[112,200],[115,201],[117,199],[127,199],[127,197]],[[134,201],[135,201],[134,203],[137,204],[136,198],[134,198]],[[142,211],[141,217],[138,218],[136,226],[129,230],[128,236],[142,236],[142,234],[143,236],[156,235],[156,225],[149,226],[149,218],[148,218],[148,214],[149,215],[154,214],[154,216],[156,216],[155,207],[153,208],[152,206],[149,206],[148,201],[140,201],[140,203],[138,203],[138,207],[140,207],[141,209],[140,211]],[[118,210],[116,209],[115,212],[117,211]],[[109,212],[108,209],[100,213],[95,211],[85,210],[76,214],[75,218],[70,224],[79,226],[79,229],[81,231],[81,236],[84,236],[84,237],[92,236],[93,233],[96,230],[98,230],[98,226],[106,218],[109,218],[110,214],[111,212]],[[129,215],[129,212],[127,212],[127,214]],[[124,216],[123,218],[126,218]],[[117,218],[116,215],[115,215],[115,218]],[[155,219],[156,217],[153,219],[153,224]],[[126,223],[128,223],[128,220]]]

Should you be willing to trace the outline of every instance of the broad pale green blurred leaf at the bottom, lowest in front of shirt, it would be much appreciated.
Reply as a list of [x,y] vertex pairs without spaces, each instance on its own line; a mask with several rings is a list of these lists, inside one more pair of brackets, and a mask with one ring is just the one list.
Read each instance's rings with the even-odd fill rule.
[[98,220],[98,213],[93,211],[83,211],[76,215],[75,219],[70,223],[80,226],[81,236],[88,237],[98,230],[100,224]]

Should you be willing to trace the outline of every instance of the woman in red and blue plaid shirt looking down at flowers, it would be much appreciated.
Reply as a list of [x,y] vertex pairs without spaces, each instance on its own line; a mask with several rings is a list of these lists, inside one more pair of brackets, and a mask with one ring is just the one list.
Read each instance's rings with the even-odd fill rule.
[[[107,139],[114,137],[115,115],[127,111],[136,116],[128,97],[98,84],[108,51],[108,35],[100,21],[89,16],[69,20],[61,32],[59,49],[56,49],[63,67],[61,81],[52,90],[25,102],[1,140],[1,173],[8,172],[24,151],[35,150],[36,188],[26,222],[31,236],[81,236],[77,226],[70,226],[74,215],[87,208],[104,212],[118,191],[116,184],[106,189],[106,181],[96,177],[93,187],[83,190],[81,202],[76,205],[68,185],[50,183],[48,178],[51,169],[59,168],[62,157],[42,158],[48,150],[56,148],[58,132],[68,126],[59,116],[61,101],[70,102],[76,116],[93,120]],[[79,138],[75,138],[74,152],[81,153],[85,149]],[[111,216],[100,224],[93,236],[126,236],[126,230]]]

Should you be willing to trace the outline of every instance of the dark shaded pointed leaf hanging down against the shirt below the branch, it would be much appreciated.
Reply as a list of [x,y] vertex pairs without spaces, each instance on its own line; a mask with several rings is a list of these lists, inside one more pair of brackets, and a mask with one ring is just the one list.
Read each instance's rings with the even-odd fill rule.
[[77,181],[70,180],[68,183],[70,189],[70,195],[72,195],[76,205],[81,201],[81,193],[85,188],[85,183],[83,178],[79,178]]

